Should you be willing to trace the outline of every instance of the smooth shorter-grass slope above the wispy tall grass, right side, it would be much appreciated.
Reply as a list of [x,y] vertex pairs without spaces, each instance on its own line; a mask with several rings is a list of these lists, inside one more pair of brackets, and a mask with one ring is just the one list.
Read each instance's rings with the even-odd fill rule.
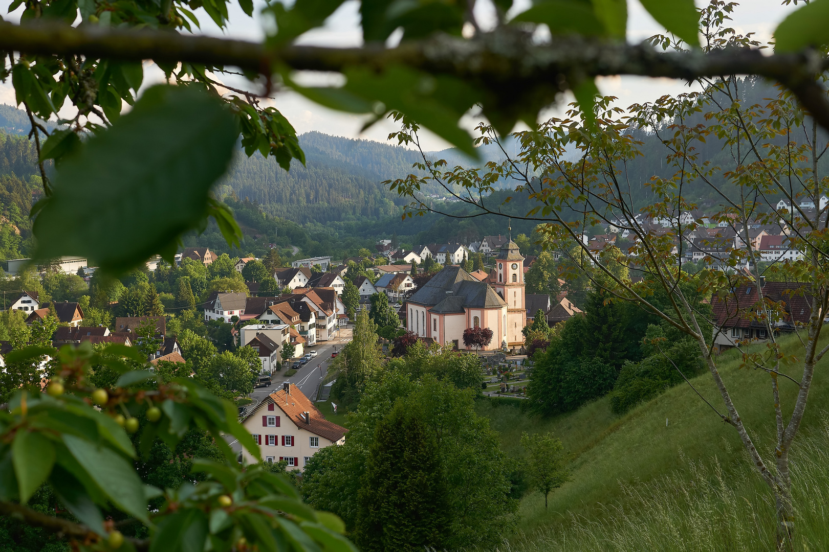
[[[802,352],[794,336],[783,339],[783,348],[787,354]],[[764,457],[770,458],[773,403],[769,377],[763,372],[739,370],[739,356],[734,351],[723,354],[718,361],[749,433]],[[826,370],[824,359],[814,378],[804,430],[816,426],[825,415],[822,410],[827,408],[829,398]],[[794,368],[788,370],[799,379],[795,372]],[[710,374],[696,377],[692,383],[711,404],[723,410]],[[788,380],[781,379],[781,383],[783,405],[790,406],[797,388]],[[600,516],[605,511],[601,504],[623,502],[619,482],[648,482],[675,473],[689,460],[710,461],[714,457],[727,473],[743,457],[734,429],[720,421],[687,385],[676,386],[622,417],[611,414],[607,398],[550,419],[528,418],[518,408],[493,406],[487,401],[479,401],[478,412],[487,415],[492,427],[502,434],[507,454],[521,455],[518,442],[522,431],[552,431],[571,455],[572,479],[550,495],[549,511],[544,511],[544,499],[537,493],[521,502],[520,529],[525,532],[558,525],[570,515]]]

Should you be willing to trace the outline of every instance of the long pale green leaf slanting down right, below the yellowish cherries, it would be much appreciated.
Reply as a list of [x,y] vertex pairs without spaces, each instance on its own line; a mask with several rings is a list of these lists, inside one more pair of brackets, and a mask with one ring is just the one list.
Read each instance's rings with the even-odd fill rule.
[[144,485],[131,463],[112,449],[73,435],[62,435],[66,448],[119,509],[149,524]]

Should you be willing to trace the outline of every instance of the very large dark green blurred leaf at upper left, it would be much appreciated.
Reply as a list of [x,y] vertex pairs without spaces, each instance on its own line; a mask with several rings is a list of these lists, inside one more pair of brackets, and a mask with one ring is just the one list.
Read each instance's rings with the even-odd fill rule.
[[[115,273],[139,266],[206,217],[238,136],[219,98],[183,86],[146,90],[57,170],[33,225],[36,257],[83,255]],[[127,221],[125,240],[113,229]]]

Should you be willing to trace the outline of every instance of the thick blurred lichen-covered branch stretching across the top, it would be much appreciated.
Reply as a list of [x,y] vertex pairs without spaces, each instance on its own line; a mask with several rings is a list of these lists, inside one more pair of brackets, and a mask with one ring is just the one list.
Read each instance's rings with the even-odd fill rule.
[[[757,74],[787,86],[820,124],[829,128],[826,92],[815,82],[827,60],[814,50],[763,55],[759,50],[727,49],[659,52],[580,36],[554,36],[548,45],[533,44],[531,35],[514,26],[479,33],[473,40],[437,35],[406,41],[396,48],[327,48],[262,44],[208,36],[187,36],[149,29],[71,27],[37,22],[0,24],[0,50],[32,55],[86,55],[120,60],[235,65],[269,76],[277,65],[294,70],[342,71],[353,65],[382,69],[408,65],[431,73],[455,74],[504,92],[546,85],[550,98],[584,77],[636,74],[693,80],[724,74]],[[509,94],[507,94],[509,96]],[[514,98],[513,96],[509,96]],[[550,101],[551,103],[551,101]]]

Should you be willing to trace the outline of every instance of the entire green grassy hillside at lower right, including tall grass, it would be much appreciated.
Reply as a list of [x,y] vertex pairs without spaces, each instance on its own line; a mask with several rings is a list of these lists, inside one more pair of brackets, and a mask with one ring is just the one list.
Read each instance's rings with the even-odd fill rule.
[[[802,358],[796,336],[782,343],[785,354]],[[773,458],[768,375],[739,369],[734,350],[718,360],[749,434],[764,458]],[[829,545],[827,366],[825,358],[818,363],[791,455],[801,550]],[[785,372],[799,379],[796,367]],[[780,381],[783,405],[790,409],[797,386]],[[691,382],[723,411],[710,374]],[[478,413],[491,420],[512,457],[523,454],[522,431],[550,431],[569,458],[570,481],[550,494],[548,511],[537,492],[522,499],[518,533],[508,550],[773,550],[771,494],[745,463],[736,431],[686,384],[623,416],[610,412],[608,397],[547,419],[526,415],[517,400],[484,399]]]

